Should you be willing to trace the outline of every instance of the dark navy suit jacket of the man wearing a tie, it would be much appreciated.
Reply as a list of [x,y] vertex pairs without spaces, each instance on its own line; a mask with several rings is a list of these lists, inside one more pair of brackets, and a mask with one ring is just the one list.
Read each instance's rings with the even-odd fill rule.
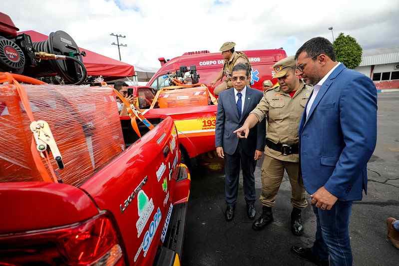
[[254,156],[255,149],[264,151],[266,137],[266,119],[258,123],[250,129],[247,139],[238,139],[233,133],[234,130],[240,128],[249,113],[255,109],[261,101],[263,93],[259,90],[252,89],[247,86],[245,93],[244,110],[241,118],[238,116],[236,96],[234,88],[230,88],[219,93],[218,112],[216,116],[215,144],[216,147],[223,147],[223,151],[227,154],[234,154],[237,149],[238,142],[243,143],[244,152],[248,156]]

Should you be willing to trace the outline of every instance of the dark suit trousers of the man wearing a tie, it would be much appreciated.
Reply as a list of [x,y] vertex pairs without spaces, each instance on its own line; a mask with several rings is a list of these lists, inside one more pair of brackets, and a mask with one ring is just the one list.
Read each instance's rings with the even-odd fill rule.
[[243,172],[243,186],[245,201],[253,203],[256,200],[255,192],[255,167],[256,161],[254,154],[248,156],[242,149],[241,141],[238,142],[238,147],[233,155],[224,154],[226,174],[225,180],[225,198],[227,205],[234,206],[237,202],[238,184],[240,177],[240,165]]

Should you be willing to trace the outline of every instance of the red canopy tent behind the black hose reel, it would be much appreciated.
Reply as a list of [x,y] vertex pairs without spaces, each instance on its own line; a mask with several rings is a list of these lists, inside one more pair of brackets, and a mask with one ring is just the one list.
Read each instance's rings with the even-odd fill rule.
[[[47,40],[48,36],[34,30],[20,31],[18,34],[25,33],[30,36],[32,41]],[[135,75],[134,67],[132,65],[123,63],[121,61],[112,59],[110,57],[92,52],[90,50],[80,48],[80,51],[85,51],[86,56],[83,57],[83,64],[86,66],[87,75],[103,76],[105,80],[113,80],[121,77],[128,77]]]

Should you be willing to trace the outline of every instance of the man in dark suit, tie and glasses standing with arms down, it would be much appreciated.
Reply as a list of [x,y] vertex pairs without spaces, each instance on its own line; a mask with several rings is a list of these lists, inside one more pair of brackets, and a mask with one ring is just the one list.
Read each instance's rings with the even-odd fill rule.
[[254,219],[255,211],[255,166],[265,148],[265,121],[251,129],[247,139],[238,139],[234,130],[241,127],[249,113],[262,99],[263,93],[250,88],[250,72],[246,64],[233,67],[233,88],[222,91],[218,99],[215,142],[218,156],[225,159],[225,217],[234,217],[238,194],[240,164],[243,172],[245,201],[248,218]]

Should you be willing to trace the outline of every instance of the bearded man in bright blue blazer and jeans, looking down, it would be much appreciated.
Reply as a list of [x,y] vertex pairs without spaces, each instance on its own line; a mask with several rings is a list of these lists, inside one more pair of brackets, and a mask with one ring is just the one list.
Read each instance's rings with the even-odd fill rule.
[[367,192],[367,162],[377,140],[377,89],[373,81],[337,62],[322,37],[305,42],[297,69],[314,85],[299,125],[300,167],[317,218],[312,248],[292,247],[317,265],[351,266],[352,202]]

